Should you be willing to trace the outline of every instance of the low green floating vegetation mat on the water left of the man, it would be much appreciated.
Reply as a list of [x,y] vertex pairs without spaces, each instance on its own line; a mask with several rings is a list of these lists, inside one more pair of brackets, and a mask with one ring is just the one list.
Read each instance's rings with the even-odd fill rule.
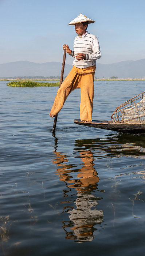
[[32,81],[12,81],[7,83],[7,86],[13,87],[36,87],[36,86],[59,86],[59,82],[56,83],[40,83],[40,82],[32,82]]

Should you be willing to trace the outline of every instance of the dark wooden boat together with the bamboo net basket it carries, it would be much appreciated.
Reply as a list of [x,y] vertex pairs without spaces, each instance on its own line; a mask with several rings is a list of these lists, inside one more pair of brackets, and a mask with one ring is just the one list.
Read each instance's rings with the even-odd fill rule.
[[110,121],[93,120],[91,123],[74,119],[74,123],[117,132],[145,134],[145,91],[117,107],[111,118]]

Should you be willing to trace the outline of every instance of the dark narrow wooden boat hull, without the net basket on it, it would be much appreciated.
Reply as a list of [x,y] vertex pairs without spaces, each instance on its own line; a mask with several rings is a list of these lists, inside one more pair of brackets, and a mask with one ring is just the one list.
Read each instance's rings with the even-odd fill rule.
[[132,134],[145,134],[145,124],[123,124],[123,123],[113,123],[113,121],[98,121],[92,120],[91,123],[85,123],[80,119],[74,119],[75,124],[85,125],[93,128],[107,129],[117,132],[127,132]]

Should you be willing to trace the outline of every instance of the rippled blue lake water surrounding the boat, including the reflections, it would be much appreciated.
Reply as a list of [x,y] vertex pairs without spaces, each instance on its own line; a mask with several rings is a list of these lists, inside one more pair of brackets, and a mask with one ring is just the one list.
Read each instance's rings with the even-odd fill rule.
[[[145,91],[95,81],[93,119]],[[0,255],[143,256],[145,136],[76,125],[80,91],[48,116],[58,87],[0,82]]]

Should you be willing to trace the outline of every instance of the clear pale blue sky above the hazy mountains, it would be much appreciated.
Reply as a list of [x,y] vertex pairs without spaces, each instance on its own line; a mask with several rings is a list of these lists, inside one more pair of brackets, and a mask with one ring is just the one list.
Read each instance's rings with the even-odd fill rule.
[[0,63],[62,62],[62,45],[73,49],[76,36],[68,23],[80,13],[96,21],[87,30],[99,40],[99,63],[145,59],[145,0],[0,0]]

